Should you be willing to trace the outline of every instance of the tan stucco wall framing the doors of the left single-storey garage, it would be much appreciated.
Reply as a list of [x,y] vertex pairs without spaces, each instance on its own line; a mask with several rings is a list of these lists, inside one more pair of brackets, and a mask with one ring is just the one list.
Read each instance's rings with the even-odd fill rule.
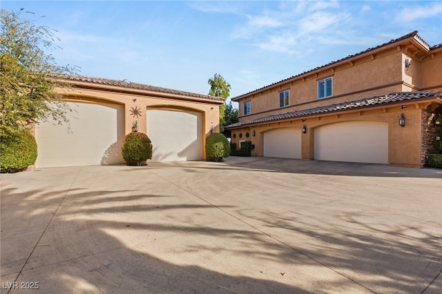
[[[203,137],[211,133],[211,128],[219,132],[219,101],[189,101],[180,98],[155,97],[153,95],[138,95],[136,93],[111,92],[106,90],[84,89],[84,88],[61,88],[57,89],[70,101],[87,100],[99,104],[100,102],[121,104],[124,106],[124,130],[125,135],[131,133],[133,123],[137,121],[139,131],[146,133],[146,110],[147,108],[172,108],[180,110],[193,110],[202,113],[202,132]],[[140,109],[141,116],[136,118],[131,115],[133,108]],[[148,134],[147,134],[148,135]],[[203,159],[205,155],[205,140],[202,146]]]

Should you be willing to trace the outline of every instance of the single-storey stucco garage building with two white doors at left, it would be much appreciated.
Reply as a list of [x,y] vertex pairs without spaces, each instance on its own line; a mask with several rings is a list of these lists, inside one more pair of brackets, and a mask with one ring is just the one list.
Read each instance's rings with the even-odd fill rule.
[[35,126],[37,168],[123,164],[135,124],[153,143],[151,161],[206,159],[205,138],[219,130],[219,97],[79,75],[64,81],[71,87],[57,91],[73,110],[70,123]]

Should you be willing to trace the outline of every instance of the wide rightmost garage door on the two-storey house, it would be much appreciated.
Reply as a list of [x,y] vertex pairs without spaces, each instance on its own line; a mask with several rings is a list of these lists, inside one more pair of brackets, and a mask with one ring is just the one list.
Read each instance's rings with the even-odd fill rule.
[[315,159],[388,164],[388,124],[346,121],[315,129]]

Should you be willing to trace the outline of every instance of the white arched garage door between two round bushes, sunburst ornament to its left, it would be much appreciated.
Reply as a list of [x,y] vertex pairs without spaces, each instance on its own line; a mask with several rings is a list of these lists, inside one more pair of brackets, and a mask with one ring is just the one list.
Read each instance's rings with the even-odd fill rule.
[[149,109],[147,135],[152,141],[152,161],[202,159],[202,115],[200,112]]

